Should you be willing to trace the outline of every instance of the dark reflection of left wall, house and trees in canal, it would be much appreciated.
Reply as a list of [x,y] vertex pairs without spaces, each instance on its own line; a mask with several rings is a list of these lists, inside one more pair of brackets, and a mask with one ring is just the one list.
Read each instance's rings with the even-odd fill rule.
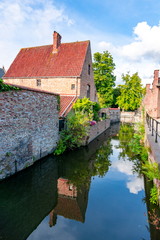
[[[112,128],[115,135],[118,125]],[[93,176],[104,176],[110,164],[110,135],[102,134],[86,148],[60,157],[44,158],[0,183],[0,239],[26,239],[49,214],[84,222]]]

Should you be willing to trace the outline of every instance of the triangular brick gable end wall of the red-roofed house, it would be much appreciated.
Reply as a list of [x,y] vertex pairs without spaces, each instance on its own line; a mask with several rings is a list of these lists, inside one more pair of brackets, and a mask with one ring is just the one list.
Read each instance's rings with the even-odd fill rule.
[[[88,73],[88,67],[90,65],[90,74]],[[97,92],[94,84],[93,69],[92,69],[92,57],[91,57],[91,48],[88,47],[85,62],[83,65],[83,71],[81,76],[80,84],[80,97],[87,96],[87,85],[90,85],[90,100],[97,101]]]

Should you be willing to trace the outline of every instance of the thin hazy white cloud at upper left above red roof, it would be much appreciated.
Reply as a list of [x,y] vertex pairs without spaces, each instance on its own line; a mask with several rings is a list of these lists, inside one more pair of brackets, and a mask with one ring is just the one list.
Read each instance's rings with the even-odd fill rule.
[[53,30],[74,24],[50,0],[0,1],[0,67],[9,67],[20,48],[50,44]]

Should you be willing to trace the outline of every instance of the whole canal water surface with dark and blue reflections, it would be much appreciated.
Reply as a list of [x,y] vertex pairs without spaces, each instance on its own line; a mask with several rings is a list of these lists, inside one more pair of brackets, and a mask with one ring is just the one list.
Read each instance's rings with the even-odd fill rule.
[[89,146],[2,181],[0,240],[160,240],[128,147],[133,131],[115,124]]

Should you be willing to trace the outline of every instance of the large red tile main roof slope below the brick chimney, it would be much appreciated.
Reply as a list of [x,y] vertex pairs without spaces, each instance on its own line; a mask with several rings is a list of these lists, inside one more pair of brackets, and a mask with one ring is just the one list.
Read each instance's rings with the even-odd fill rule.
[[89,41],[22,48],[4,78],[80,76]]

